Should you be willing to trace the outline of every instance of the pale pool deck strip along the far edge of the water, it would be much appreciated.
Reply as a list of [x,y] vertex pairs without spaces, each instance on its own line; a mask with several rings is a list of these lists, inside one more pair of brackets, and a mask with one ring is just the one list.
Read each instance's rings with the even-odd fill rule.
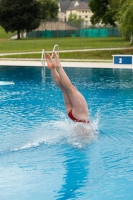
[[[122,68],[133,69],[133,65],[113,64],[112,61],[101,60],[61,60],[63,67],[83,67],[83,68]],[[0,66],[32,66],[42,67],[41,61],[38,60],[0,60]]]

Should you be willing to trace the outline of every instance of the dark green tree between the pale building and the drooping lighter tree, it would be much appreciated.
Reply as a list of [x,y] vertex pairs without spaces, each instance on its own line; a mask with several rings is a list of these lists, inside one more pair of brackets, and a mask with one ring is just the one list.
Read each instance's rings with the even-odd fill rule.
[[91,23],[102,23],[105,25],[116,25],[116,10],[112,9],[114,5],[112,0],[90,0],[89,7],[93,12]]

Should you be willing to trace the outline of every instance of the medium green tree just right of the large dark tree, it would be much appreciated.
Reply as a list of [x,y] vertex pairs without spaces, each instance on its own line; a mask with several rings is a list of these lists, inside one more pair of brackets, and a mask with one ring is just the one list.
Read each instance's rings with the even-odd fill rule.
[[41,19],[57,19],[58,3],[55,0],[39,0],[41,3]]

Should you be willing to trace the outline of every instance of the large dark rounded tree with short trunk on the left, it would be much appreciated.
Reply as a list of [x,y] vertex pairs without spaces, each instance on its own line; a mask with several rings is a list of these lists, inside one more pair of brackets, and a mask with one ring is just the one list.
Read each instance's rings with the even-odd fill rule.
[[36,0],[1,0],[0,25],[6,32],[31,31],[40,24],[41,4]]

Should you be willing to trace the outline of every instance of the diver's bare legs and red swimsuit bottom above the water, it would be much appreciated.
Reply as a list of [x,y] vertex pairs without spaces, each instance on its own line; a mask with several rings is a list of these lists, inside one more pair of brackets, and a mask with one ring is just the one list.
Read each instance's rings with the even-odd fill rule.
[[83,95],[72,85],[70,79],[61,66],[59,57],[53,52],[54,60],[46,54],[47,67],[51,69],[56,85],[61,89],[66,111],[74,122],[90,123],[88,106]]

